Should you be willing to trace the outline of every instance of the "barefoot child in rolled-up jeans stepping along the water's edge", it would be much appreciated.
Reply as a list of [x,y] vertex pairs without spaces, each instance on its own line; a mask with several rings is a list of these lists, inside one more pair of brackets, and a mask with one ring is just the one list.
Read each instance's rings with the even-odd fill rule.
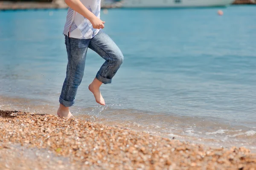
[[63,32],[68,63],[57,115],[74,118],[69,107],[75,103],[77,88],[84,75],[87,49],[92,49],[105,59],[96,78],[89,85],[96,102],[101,105],[105,105],[105,101],[99,87],[102,83],[111,83],[123,62],[123,55],[113,40],[102,31],[105,22],[100,20],[100,0],[65,0],[65,3],[69,6]]

